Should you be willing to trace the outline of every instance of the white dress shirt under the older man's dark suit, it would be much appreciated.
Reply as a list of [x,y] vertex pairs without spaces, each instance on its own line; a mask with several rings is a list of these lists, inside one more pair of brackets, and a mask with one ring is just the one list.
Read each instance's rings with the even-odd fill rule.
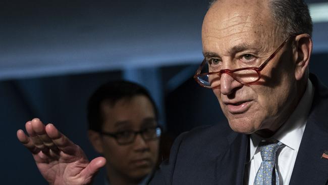
[[[307,117],[310,112],[314,89],[308,80],[306,90],[295,111],[272,136],[283,143],[276,154],[276,168],[279,171],[279,184],[289,184],[296,156],[301,144]],[[261,165],[262,158],[258,145],[263,138],[253,133],[250,135],[250,161],[245,166],[244,184],[253,185],[255,175]]]

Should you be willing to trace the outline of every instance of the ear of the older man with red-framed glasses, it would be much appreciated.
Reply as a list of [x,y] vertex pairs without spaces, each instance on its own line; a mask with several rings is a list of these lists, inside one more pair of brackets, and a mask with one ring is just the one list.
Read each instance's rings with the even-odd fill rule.
[[312,52],[312,39],[309,34],[300,34],[295,37],[295,78],[302,79],[305,75],[310,62],[310,55]]

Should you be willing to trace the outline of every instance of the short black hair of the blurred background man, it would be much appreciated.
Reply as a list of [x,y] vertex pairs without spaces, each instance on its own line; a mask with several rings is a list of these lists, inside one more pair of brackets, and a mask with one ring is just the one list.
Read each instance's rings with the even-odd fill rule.
[[115,105],[119,100],[130,99],[138,95],[149,99],[153,106],[155,118],[158,119],[156,105],[144,87],[129,81],[110,81],[98,87],[89,98],[87,107],[89,129],[101,131],[103,120],[100,105],[103,101],[109,101],[112,105]]

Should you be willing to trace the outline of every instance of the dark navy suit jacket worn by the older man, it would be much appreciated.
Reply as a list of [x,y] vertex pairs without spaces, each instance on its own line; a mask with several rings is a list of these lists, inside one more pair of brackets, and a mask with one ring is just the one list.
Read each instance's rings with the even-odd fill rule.
[[[314,99],[289,184],[327,184],[328,88],[314,76]],[[249,136],[229,124],[201,127],[181,134],[170,159],[161,164],[150,184],[243,184],[249,159]]]

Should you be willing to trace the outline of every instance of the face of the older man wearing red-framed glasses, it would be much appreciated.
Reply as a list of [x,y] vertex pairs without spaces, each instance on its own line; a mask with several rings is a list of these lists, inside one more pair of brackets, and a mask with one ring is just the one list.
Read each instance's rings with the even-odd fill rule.
[[[285,39],[262,1],[218,1],[202,27],[203,53],[207,59],[221,60],[222,69],[259,67]],[[221,86],[213,91],[233,130],[274,131],[285,121],[296,94],[291,52],[287,44],[261,71],[256,84],[242,85],[222,75]]]

